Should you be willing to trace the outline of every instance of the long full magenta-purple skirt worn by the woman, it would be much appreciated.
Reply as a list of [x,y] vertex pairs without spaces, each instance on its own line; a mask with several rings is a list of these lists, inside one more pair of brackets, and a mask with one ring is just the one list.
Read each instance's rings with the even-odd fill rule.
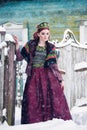
[[21,123],[43,122],[53,118],[72,119],[64,92],[49,68],[34,68],[25,85]]

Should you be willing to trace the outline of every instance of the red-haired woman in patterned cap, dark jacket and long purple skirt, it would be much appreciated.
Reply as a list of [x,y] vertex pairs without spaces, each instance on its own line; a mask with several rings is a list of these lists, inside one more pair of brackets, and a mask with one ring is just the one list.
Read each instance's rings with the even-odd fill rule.
[[19,50],[16,43],[17,60],[27,61],[21,123],[36,123],[53,118],[69,120],[70,111],[63,92],[64,83],[56,61],[55,46],[48,40],[49,25],[43,22],[37,26],[33,40]]

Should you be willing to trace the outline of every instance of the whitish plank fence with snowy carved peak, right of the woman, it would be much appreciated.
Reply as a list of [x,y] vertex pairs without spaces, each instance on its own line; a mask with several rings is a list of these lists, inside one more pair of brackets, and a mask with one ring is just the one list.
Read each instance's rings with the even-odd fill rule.
[[56,47],[60,52],[59,68],[64,72],[65,95],[71,108],[76,99],[87,97],[87,45],[80,44],[74,34],[66,30]]

